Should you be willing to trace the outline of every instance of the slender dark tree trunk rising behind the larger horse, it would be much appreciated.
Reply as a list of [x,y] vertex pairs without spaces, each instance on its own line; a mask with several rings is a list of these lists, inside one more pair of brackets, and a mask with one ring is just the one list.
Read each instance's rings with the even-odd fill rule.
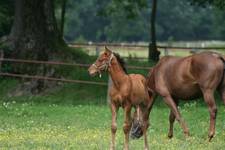
[[153,61],[159,60],[160,52],[157,50],[156,45],[156,33],[155,33],[155,18],[156,18],[156,12],[157,12],[157,0],[152,1],[152,13],[151,13],[151,43],[149,44],[149,53],[148,53],[148,59]]

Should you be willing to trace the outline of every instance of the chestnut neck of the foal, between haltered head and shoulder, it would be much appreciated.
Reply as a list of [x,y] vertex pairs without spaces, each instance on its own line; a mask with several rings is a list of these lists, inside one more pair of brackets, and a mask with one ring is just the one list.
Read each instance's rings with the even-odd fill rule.
[[113,84],[120,88],[127,80],[128,75],[123,71],[118,61],[114,58],[109,68],[109,75],[112,78]]

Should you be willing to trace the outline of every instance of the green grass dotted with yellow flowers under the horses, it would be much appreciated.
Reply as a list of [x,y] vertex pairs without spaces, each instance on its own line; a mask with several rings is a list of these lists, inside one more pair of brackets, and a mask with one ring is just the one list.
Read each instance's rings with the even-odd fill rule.
[[[111,114],[105,87],[65,84],[42,95],[10,97],[16,80],[0,82],[0,149],[105,150],[110,143]],[[98,91],[98,92],[97,92]],[[83,95],[83,96],[82,96]],[[218,99],[218,98],[217,98]],[[150,115],[151,149],[208,149],[225,147],[225,107],[217,100],[216,137],[207,141],[209,113],[202,100],[181,103],[191,137],[185,139],[175,123],[174,138],[167,138],[169,109],[157,99]],[[123,147],[123,112],[119,111],[117,149]],[[131,140],[131,150],[143,149],[143,139]]]

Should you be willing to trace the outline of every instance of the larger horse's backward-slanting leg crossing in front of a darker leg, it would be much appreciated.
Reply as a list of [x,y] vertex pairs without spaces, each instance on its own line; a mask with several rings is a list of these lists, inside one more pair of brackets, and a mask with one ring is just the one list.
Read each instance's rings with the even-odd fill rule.
[[[182,119],[180,112],[176,106],[176,103],[174,102],[174,100],[172,99],[172,97],[170,95],[167,95],[164,97],[164,101],[166,102],[166,104],[170,107],[171,111],[173,112],[176,120],[179,122],[179,124],[181,125],[183,132],[185,134],[185,136],[189,136],[189,130],[187,125],[185,124],[184,120]],[[173,116],[171,117],[171,120],[173,119]]]

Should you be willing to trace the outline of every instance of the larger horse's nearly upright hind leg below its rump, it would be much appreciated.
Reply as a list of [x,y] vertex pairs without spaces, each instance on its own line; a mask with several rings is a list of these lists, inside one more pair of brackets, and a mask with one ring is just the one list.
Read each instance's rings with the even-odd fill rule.
[[217,114],[217,108],[216,103],[214,99],[214,92],[211,89],[203,90],[203,96],[205,99],[206,104],[209,108],[210,113],[210,127],[209,127],[209,141],[213,138],[215,135],[215,122],[216,122],[216,114]]

